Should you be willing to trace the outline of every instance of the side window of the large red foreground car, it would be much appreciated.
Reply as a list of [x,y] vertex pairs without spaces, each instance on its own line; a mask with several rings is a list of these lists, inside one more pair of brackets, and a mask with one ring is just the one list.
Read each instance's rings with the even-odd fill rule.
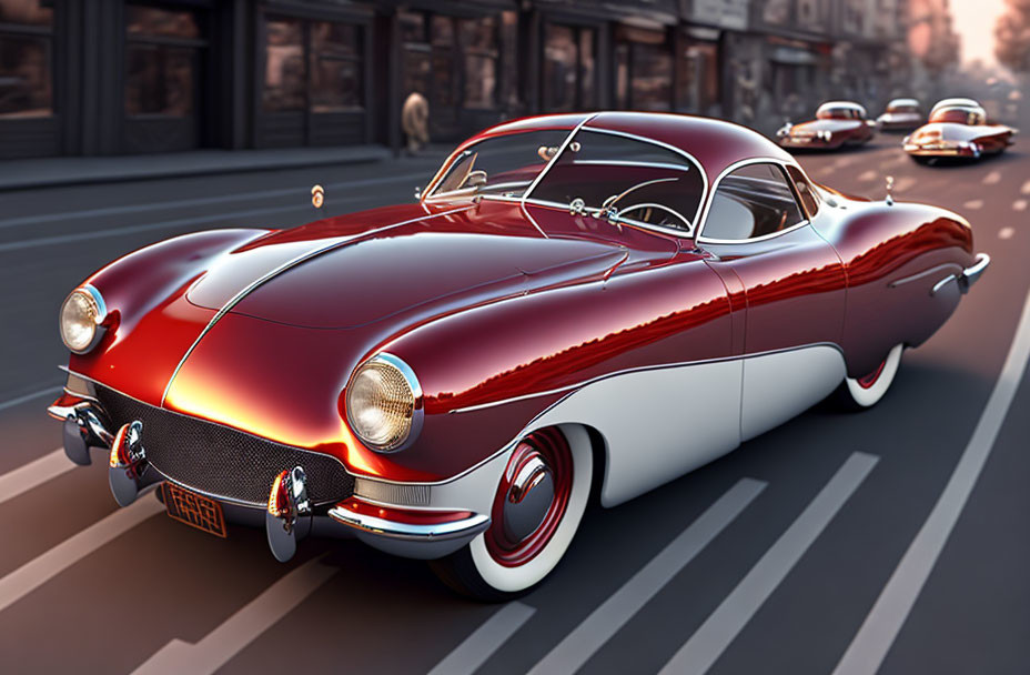
[[804,220],[782,169],[771,163],[748,164],[719,181],[701,236],[745,241],[775,234]]

